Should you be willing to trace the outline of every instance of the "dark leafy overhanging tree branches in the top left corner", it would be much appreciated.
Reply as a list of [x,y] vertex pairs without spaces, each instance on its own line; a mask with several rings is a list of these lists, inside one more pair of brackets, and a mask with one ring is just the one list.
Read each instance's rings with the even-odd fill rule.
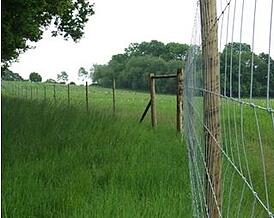
[[77,42],[84,34],[84,25],[94,14],[93,4],[86,0],[3,0],[1,10],[1,61],[15,60],[31,48],[52,26],[52,36],[62,35]]

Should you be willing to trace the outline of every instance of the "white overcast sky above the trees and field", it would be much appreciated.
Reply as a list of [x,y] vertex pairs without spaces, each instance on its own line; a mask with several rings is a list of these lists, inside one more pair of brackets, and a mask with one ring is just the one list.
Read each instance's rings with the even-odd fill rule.
[[[254,1],[245,1],[243,42],[248,44],[251,44],[252,39]],[[227,0],[218,2],[218,13],[226,2]],[[258,1],[255,35],[255,50],[258,52],[268,51],[270,2],[271,0]],[[52,38],[50,32],[45,32],[43,39],[35,44],[36,48],[20,55],[18,62],[12,64],[11,70],[24,78],[28,78],[31,72],[38,72],[43,80],[56,79],[57,73],[66,71],[69,81],[77,81],[80,67],[90,69],[93,64],[105,64],[112,55],[122,53],[132,42],[153,39],[164,43],[191,42],[195,0],[95,0],[94,3],[95,15],[87,23],[85,36],[79,43],[65,41],[62,37]],[[242,0],[237,0],[234,41],[239,41],[240,36],[241,4]],[[232,9],[233,4],[230,30]],[[222,41],[225,42],[225,27],[223,31]],[[229,34],[231,40],[231,32]],[[274,42],[271,47],[272,57],[273,44]]]

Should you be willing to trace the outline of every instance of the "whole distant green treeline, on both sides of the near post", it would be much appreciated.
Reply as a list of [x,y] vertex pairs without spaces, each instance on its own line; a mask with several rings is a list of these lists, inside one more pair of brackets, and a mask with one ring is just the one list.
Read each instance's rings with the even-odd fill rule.
[[[152,40],[151,42],[132,43],[124,53],[113,55],[106,65],[94,65],[92,79],[104,87],[111,87],[112,78],[118,88],[147,90],[147,78],[150,73],[175,73],[184,67],[190,46],[180,43],[168,43]],[[198,52],[197,52],[198,50]],[[201,60],[201,49],[196,48],[195,55]],[[239,64],[239,57],[241,61]],[[251,66],[253,65],[253,96],[266,96],[268,54],[253,54],[250,45],[229,43],[220,53],[221,92],[238,95],[238,72],[240,70],[241,96],[250,93]],[[253,61],[252,61],[253,60]],[[201,63],[196,63],[201,66]],[[199,70],[199,68],[197,68]],[[230,74],[232,83],[230,84]],[[202,84],[202,81],[201,81]],[[226,84],[226,85],[224,85]],[[174,79],[157,81],[158,92],[173,93],[176,90]],[[274,61],[270,58],[270,96],[274,97]]]

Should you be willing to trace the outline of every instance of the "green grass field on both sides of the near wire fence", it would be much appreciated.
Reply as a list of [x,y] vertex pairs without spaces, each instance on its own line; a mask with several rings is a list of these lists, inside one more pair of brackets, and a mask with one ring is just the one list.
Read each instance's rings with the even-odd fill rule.
[[[147,93],[118,90],[113,116],[109,89],[89,87],[87,113],[84,87],[71,86],[69,107],[66,86],[56,86],[55,101],[53,86],[45,87],[46,95],[42,85],[2,83],[3,217],[192,217],[187,147],[176,134],[175,96],[157,96],[159,125],[152,130],[149,115],[138,123]],[[249,167],[264,199],[254,112],[244,108],[243,113]],[[268,114],[257,113],[273,207],[273,128]],[[244,166],[235,142],[236,137],[241,141],[240,108],[224,102],[222,114],[224,145],[234,145],[230,155]],[[233,174],[224,162],[228,217],[237,217],[243,189]],[[246,189],[240,217],[249,217],[252,203]],[[256,217],[265,217],[259,204],[255,210]]]

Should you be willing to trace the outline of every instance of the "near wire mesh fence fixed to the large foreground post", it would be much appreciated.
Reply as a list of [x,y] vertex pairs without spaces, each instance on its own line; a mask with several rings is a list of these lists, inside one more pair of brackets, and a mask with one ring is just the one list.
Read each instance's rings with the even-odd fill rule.
[[[218,28],[220,92],[205,88],[199,2],[185,68],[184,133],[193,216],[212,217],[211,203],[219,217],[274,217],[273,0],[217,0],[217,12],[209,29]],[[221,99],[221,140],[204,122],[205,94]],[[211,180],[213,196],[206,200],[205,134],[221,151],[221,202]]]

